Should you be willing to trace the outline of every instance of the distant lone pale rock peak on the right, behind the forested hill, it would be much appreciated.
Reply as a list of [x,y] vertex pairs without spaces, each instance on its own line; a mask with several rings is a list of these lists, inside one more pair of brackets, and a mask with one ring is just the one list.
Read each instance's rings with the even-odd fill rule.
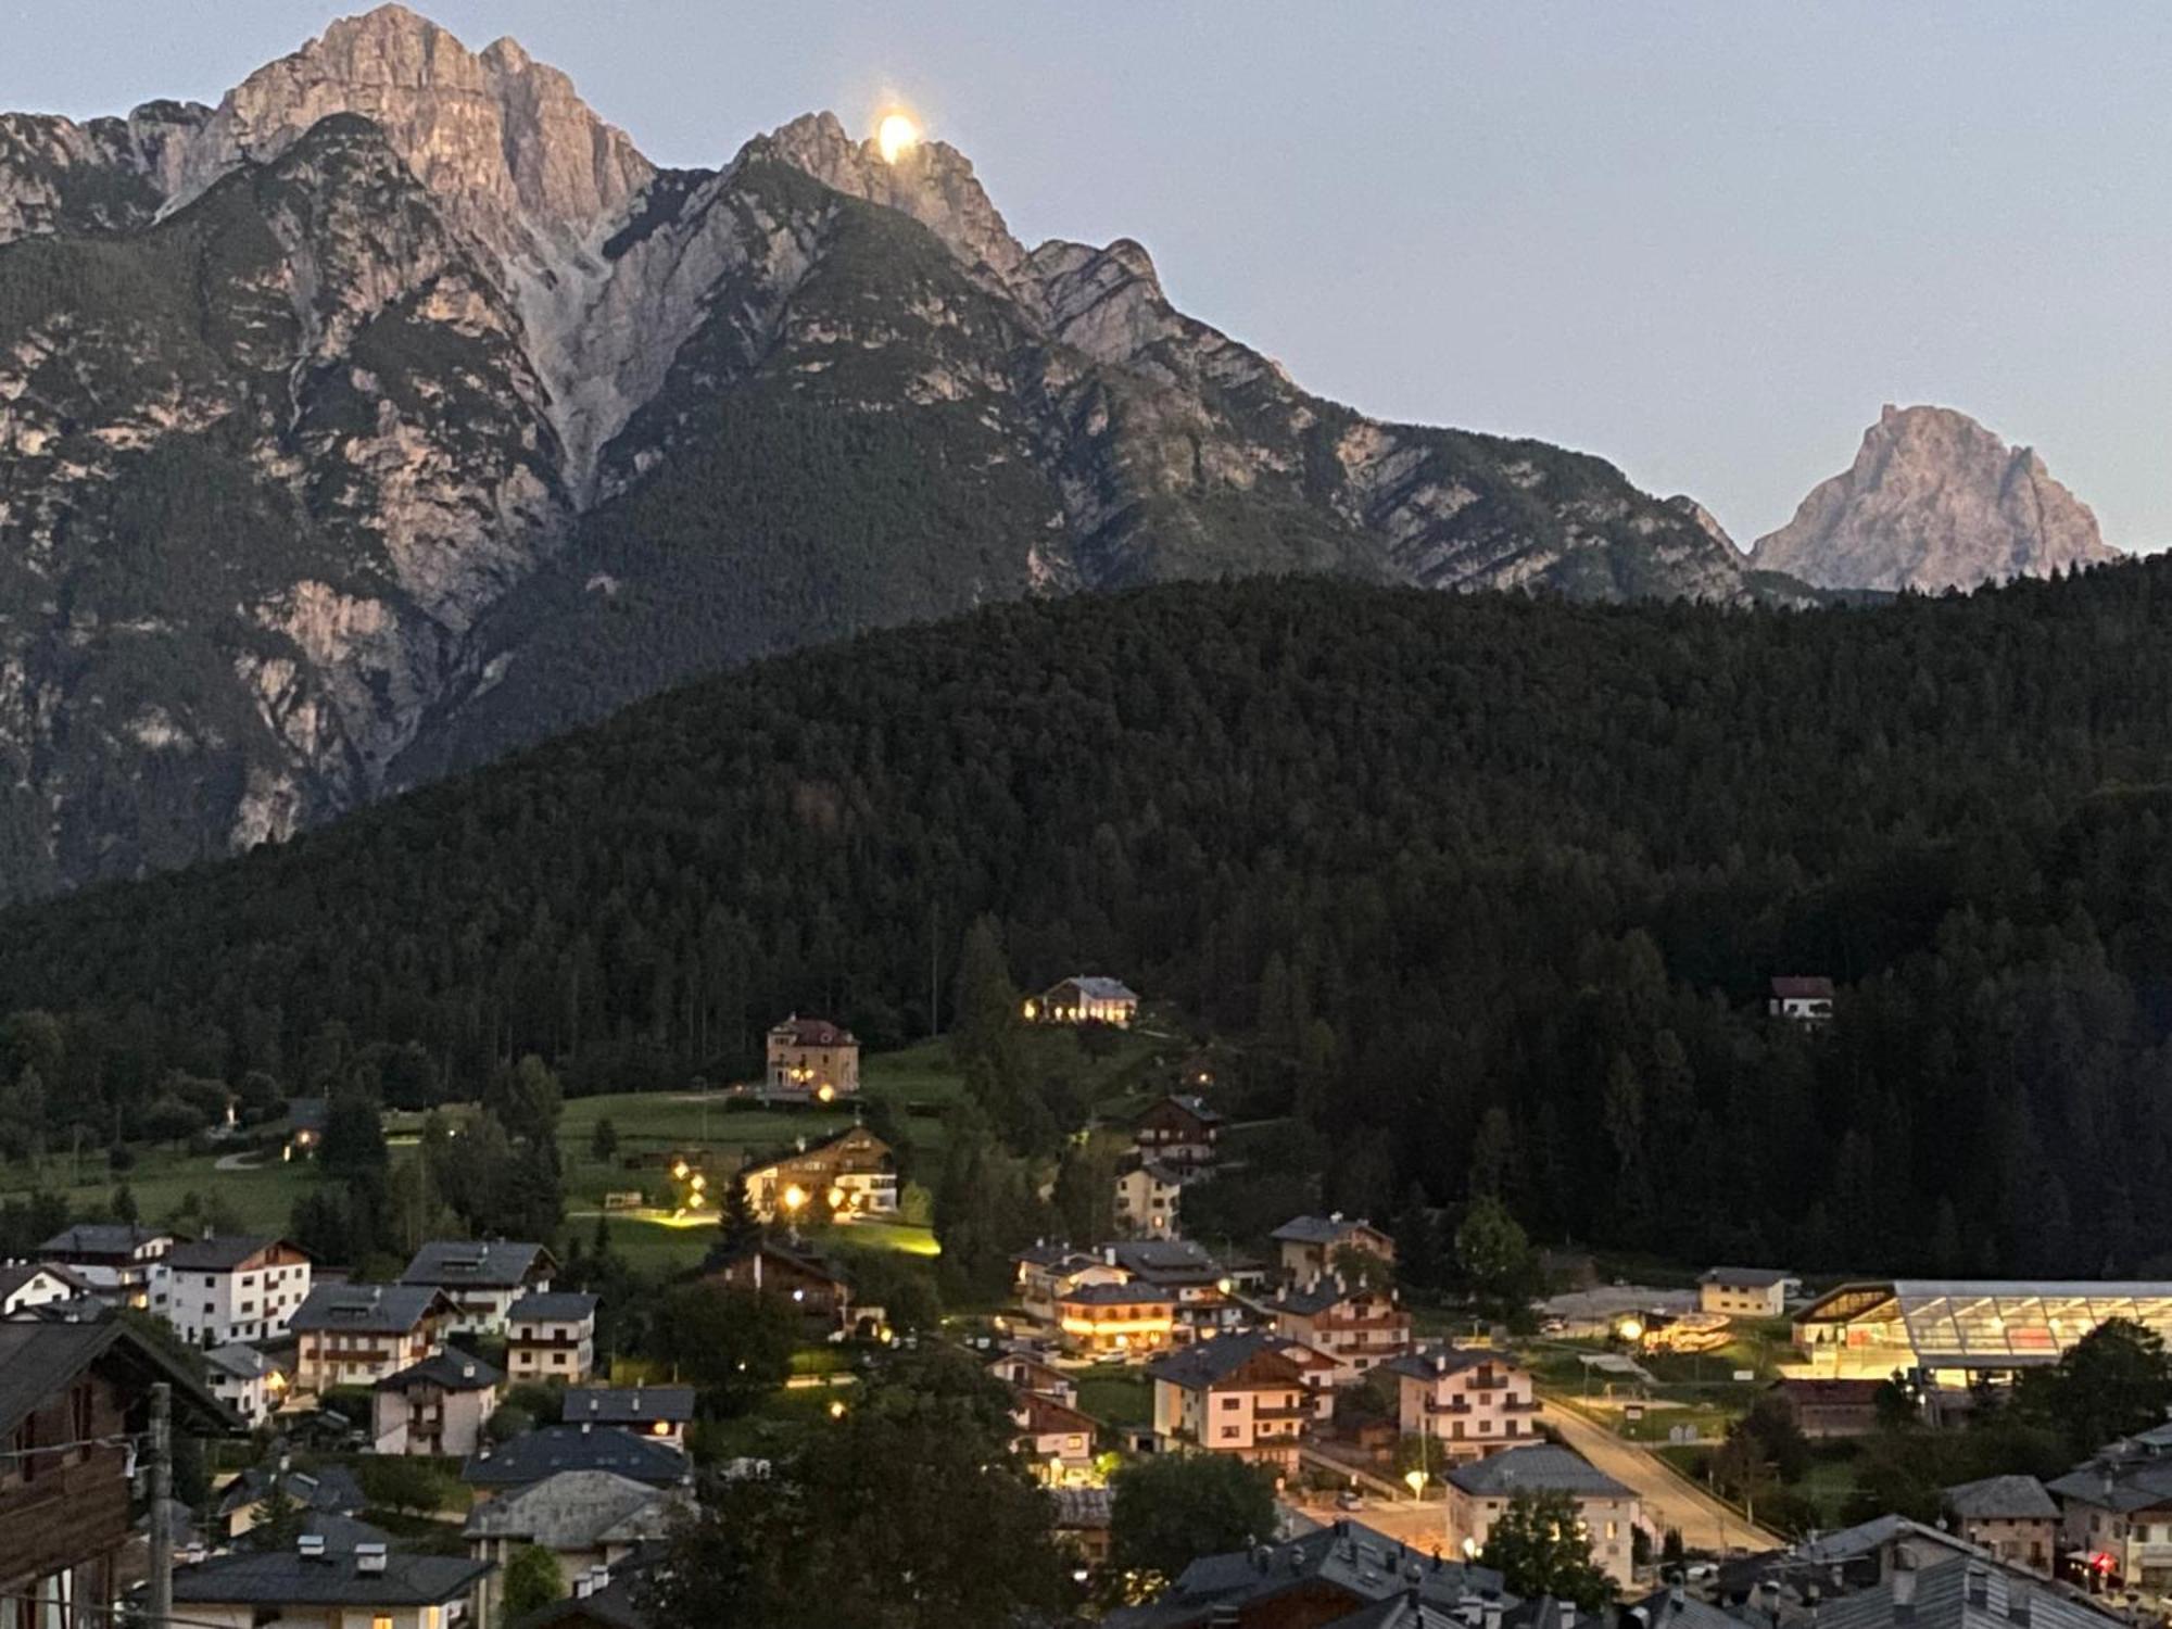
[[1953,408],[1887,406],[1755,563],[1822,589],[1974,589],[2122,558],[2031,447]]

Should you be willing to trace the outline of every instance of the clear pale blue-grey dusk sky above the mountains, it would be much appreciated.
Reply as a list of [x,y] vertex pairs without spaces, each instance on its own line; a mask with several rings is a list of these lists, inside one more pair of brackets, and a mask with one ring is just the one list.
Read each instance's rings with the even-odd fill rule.
[[[0,0],[0,109],[215,102],[352,9]],[[667,165],[899,98],[1023,241],[1134,237],[1308,389],[1599,452],[1742,543],[1885,402],[1972,413],[2111,543],[2172,543],[2159,0],[417,9]]]

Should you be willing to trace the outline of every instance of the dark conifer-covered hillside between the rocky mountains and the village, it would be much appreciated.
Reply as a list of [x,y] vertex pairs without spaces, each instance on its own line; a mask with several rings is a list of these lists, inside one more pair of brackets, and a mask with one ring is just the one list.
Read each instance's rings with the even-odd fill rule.
[[[0,1127],[374,1043],[471,1097],[927,1025],[993,912],[1268,1060],[1325,1201],[1796,1268],[2161,1271],[2172,565],[1816,613],[1349,582],[1010,604],[0,919]],[[1840,1019],[1761,1014],[1831,973]],[[428,1053],[421,1075],[413,1062]],[[24,1073],[28,1071],[28,1082]],[[1407,1203],[1407,1199],[1403,1201]]]

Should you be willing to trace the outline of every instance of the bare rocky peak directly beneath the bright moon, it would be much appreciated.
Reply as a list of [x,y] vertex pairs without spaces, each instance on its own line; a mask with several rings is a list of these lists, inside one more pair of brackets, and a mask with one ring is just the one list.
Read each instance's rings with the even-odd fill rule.
[[1025,245],[988,200],[973,161],[947,141],[917,141],[888,161],[873,139],[854,141],[836,113],[804,113],[765,141],[825,187],[910,215],[982,280],[1012,295],[1030,287]]

